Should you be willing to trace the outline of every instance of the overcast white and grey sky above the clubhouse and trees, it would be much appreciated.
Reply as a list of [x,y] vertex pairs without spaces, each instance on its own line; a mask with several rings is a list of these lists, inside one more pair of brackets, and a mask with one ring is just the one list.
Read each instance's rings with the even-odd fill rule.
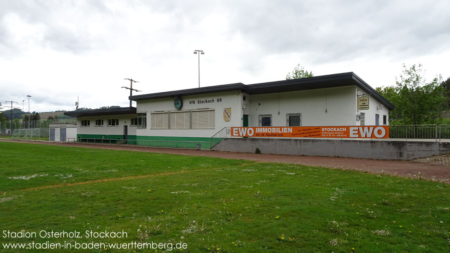
[[284,80],[299,63],[374,88],[395,84],[403,63],[447,79],[449,45],[448,0],[0,0],[0,102],[128,106],[124,78],[140,82],[136,95],[196,88],[194,50],[200,86]]

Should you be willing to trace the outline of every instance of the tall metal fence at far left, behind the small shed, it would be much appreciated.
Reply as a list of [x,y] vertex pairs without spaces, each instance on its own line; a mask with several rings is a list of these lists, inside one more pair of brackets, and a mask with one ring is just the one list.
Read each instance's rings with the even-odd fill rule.
[[31,120],[28,121],[20,121],[13,120],[11,121],[0,121],[0,135],[13,135],[15,130],[18,129],[40,129],[40,136],[38,137],[49,137],[49,125],[52,123],[71,123],[76,124],[76,119],[41,119],[41,120]]

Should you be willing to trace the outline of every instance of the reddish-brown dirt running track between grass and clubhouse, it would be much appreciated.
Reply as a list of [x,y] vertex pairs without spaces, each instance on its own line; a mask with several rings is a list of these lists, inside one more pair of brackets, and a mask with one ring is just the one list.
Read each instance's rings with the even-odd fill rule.
[[10,139],[0,139],[5,142],[22,142],[41,145],[58,145],[69,147],[87,147],[99,149],[131,150],[139,152],[167,153],[177,155],[208,156],[230,159],[244,159],[262,162],[280,162],[302,164],[309,166],[320,166],[336,169],[349,169],[357,171],[367,171],[373,174],[389,174],[411,178],[424,178],[436,182],[450,184],[450,155],[435,156],[430,158],[415,159],[413,161],[400,160],[373,160],[359,158],[323,157],[323,156],[299,156],[299,155],[274,155],[274,154],[252,154],[233,153],[209,150],[191,149],[166,149],[147,148],[138,146],[118,146],[118,145],[92,145],[80,143],[58,143],[49,141],[18,141]]

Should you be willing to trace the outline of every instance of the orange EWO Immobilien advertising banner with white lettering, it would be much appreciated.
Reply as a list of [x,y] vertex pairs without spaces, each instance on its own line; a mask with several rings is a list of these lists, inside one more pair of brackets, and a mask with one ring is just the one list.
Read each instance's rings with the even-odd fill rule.
[[232,127],[233,137],[389,138],[389,126]]

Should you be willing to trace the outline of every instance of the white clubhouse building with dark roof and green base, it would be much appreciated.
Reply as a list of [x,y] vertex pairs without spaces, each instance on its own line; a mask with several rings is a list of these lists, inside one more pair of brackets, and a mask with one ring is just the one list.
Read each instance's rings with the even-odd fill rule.
[[150,141],[209,142],[226,127],[382,126],[388,124],[388,112],[394,108],[353,72],[129,99],[136,101],[136,108],[64,114],[77,118],[80,140],[137,140],[153,145]]

